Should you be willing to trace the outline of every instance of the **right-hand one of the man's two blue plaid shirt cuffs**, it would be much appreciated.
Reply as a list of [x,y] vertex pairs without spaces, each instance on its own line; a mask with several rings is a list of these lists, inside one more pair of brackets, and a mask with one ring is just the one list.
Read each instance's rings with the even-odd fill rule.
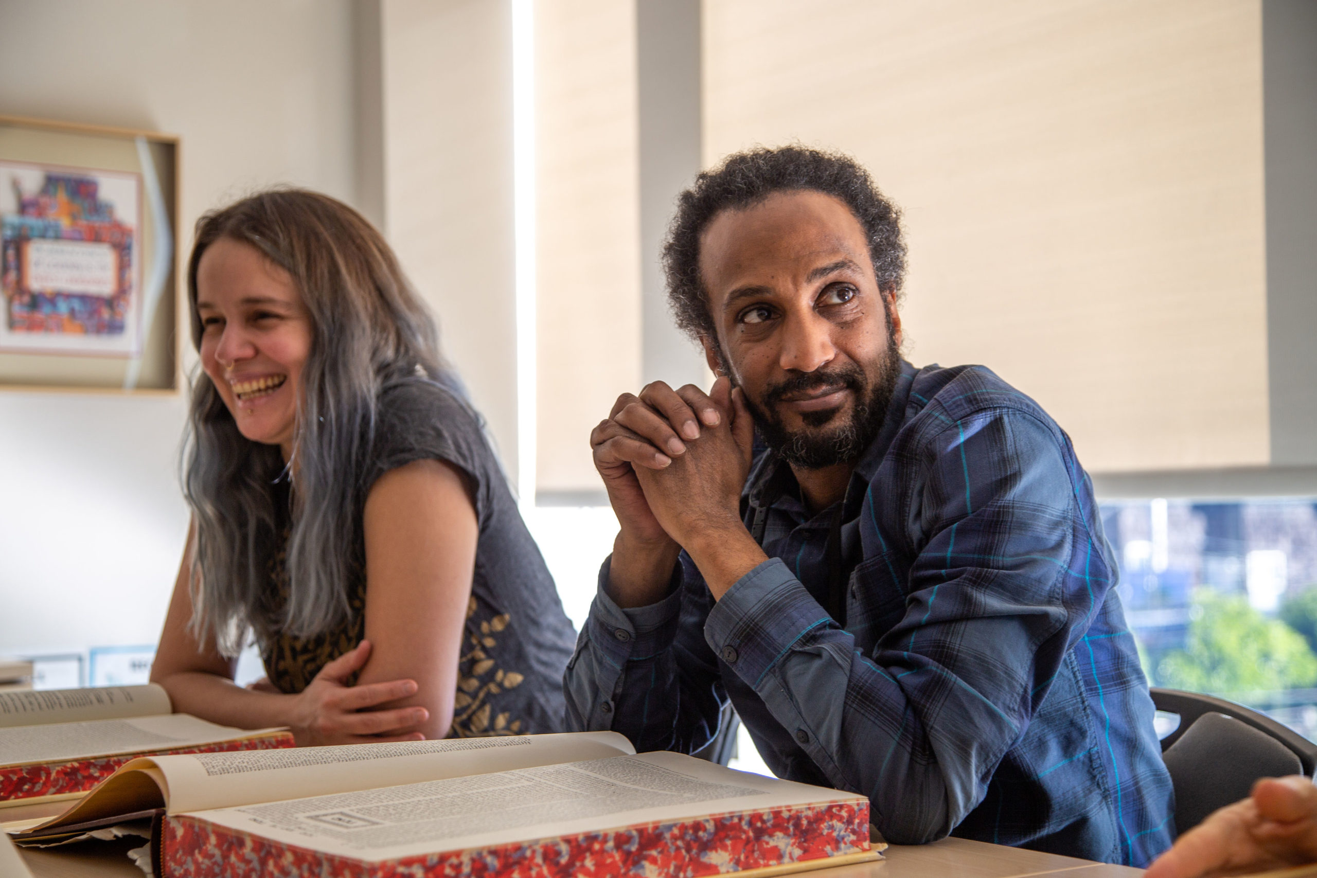
[[738,579],[709,611],[705,640],[757,690],[795,641],[831,620],[782,559],[769,558]]

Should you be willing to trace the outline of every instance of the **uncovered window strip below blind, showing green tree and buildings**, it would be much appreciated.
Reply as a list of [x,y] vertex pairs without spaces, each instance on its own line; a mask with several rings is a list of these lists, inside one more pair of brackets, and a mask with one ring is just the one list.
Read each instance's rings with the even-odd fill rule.
[[1317,740],[1317,502],[1101,504],[1152,686],[1221,695]]

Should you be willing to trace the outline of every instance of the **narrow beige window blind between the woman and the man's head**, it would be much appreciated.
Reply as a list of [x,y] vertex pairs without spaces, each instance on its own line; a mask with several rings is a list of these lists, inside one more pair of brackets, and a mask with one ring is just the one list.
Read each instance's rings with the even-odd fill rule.
[[640,384],[631,3],[536,4],[541,491],[598,491],[589,434]]

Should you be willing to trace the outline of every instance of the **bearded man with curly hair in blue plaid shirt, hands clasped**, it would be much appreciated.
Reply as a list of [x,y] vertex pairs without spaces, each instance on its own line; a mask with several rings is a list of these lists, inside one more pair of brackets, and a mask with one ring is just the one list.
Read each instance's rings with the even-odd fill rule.
[[897,209],[847,157],[757,149],[682,194],[664,262],[719,378],[591,434],[620,530],[569,725],[690,753],[731,699],[888,841],[1147,865],[1171,781],[1092,486],[988,369],[902,359]]

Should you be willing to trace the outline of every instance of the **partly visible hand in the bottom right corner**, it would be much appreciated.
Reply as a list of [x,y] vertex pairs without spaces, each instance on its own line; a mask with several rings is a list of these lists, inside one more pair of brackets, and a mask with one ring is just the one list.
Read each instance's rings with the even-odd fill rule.
[[1214,812],[1148,866],[1146,878],[1200,878],[1317,862],[1317,787],[1264,778],[1252,795]]

